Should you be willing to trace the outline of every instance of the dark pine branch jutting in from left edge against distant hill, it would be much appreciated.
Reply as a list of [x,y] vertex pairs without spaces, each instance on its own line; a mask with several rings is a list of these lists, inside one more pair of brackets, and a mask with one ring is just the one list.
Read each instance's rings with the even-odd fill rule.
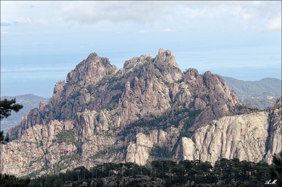
[[23,108],[23,105],[15,103],[16,98],[11,100],[4,99],[0,101],[0,120],[3,118],[8,118],[8,116],[11,115],[12,110],[18,112]]

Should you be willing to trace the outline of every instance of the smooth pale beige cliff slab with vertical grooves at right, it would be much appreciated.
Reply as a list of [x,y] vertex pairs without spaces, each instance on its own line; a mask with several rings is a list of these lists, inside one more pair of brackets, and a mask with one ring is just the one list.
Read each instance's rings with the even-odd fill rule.
[[281,98],[273,104],[269,114],[254,112],[226,116],[199,128],[191,138],[183,137],[174,159],[199,159],[211,163],[220,158],[253,162],[265,159],[270,164],[269,155],[280,151]]

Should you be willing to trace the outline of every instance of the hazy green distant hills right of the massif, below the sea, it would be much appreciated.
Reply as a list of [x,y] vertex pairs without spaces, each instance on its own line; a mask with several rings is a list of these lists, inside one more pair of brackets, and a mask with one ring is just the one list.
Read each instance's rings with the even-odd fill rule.
[[252,104],[258,109],[270,108],[281,97],[282,81],[278,78],[263,78],[259,81],[243,81],[221,76],[233,89],[242,104]]

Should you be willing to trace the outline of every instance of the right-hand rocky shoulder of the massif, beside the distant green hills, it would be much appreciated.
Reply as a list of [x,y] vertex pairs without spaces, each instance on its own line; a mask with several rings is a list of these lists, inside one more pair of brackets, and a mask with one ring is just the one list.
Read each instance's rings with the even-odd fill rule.
[[210,71],[200,75],[196,69],[190,68],[183,74],[182,80],[195,90],[195,109],[203,110],[191,126],[192,131],[207,124],[211,119],[247,112],[238,110],[238,106],[241,106],[238,97],[233,90],[228,89],[226,82],[219,75]]

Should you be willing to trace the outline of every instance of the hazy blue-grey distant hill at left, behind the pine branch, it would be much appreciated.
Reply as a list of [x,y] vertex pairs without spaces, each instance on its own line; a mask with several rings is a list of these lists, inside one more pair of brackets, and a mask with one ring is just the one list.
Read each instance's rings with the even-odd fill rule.
[[16,98],[17,104],[22,104],[24,106],[18,113],[12,112],[12,115],[9,116],[7,119],[4,118],[1,120],[1,130],[4,133],[7,132],[10,128],[20,124],[22,117],[25,113],[29,110],[34,108],[39,108],[39,102],[44,100],[46,102],[49,101],[50,98],[44,98],[33,94],[24,94],[24,95],[17,95],[17,96],[2,96],[0,99],[13,99]]

